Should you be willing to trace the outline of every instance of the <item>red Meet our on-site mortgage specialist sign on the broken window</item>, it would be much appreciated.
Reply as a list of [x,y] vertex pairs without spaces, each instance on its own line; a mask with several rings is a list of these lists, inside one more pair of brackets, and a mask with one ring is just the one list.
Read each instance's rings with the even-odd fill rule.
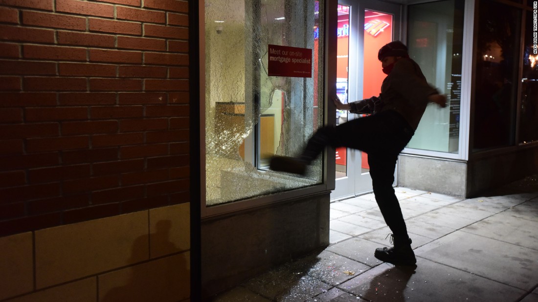
[[312,49],[268,45],[268,76],[312,78]]

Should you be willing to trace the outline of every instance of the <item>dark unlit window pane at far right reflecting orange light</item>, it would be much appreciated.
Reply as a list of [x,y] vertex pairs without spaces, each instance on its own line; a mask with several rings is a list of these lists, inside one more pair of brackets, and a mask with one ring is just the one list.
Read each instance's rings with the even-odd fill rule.
[[479,1],[473,151],[515,143],[521,10]]

